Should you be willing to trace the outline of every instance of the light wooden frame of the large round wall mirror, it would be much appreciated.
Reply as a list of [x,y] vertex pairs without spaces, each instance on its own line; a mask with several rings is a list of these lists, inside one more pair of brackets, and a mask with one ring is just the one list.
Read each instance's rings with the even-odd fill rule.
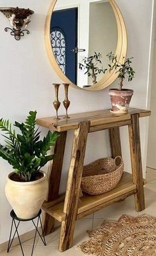
[[[59,68],[59,65],[56,62],[56,58],[54,56],[53,50],[52,50],[52,45],[50,42],[50,22],[51,22],[51,17],[52,13],[54,11],[54,7],[56,5],[58,0],[53,0],[52,4],[50,5],[50,9],[48,10],[48,15],[46,17],[46,24],[45,24],[45,42],[46,42],[46,52],[48,54],[48,58],[50,60],[50,63],[54,67],[54,70],[56,73],[59,75],[59,77],[62,79],[64,83],[70,83],[72,87],[76,89],[83,89],[75,84],[73,84],[67,77],[66,75],[61,71]],[[116,2],[114,0],[109,0],[110,5],[112,6],[112,9],[114,11],[114,15],[116,17],[116,23],[117,23],[117,28],[118,28],[118,41],[117,41],[117,46],[116,46],[116,56],[118,58],[118,61],[120,63],[124,63],[123,57],[126,57],[127,53],[127,32],[126,32],[126,25],[124,22],[124,18],[122,17],[122,13],[116,5]],[[102,79],[100,79],[95,85],[92,85],[91,87],[85,88],[83,90],[86,91],[99,91],[102,90],[109,85],[111,85],[116,78],[118,77],[118,73],[116,73],[115,70],[106,71]]]

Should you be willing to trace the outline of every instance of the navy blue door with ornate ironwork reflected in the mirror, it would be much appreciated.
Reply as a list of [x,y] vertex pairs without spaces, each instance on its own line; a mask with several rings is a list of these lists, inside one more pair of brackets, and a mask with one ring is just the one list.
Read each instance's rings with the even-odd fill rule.
[[50,40],[54,56],[63,73],[77,84],[77,8],[54,11]]

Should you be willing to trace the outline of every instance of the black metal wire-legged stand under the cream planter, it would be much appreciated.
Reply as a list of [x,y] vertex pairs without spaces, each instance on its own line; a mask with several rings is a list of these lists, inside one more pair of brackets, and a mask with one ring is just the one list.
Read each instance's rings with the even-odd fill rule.
[[[21,248],[21,251],[22,251],[22,256],[24,256],[24,251],[22,249],[22,243],[20,241],[20,237],[19,237],[19,232],[18,232],[18,228],[19,228],[19,224],[20,222],[28,222],[28,221],[32,221],[32,223],[34,224],[34,227],[35,227],[35,234],[34,234],[34,242],[33,242],[33,245],[32,245],[32,253],[31,253],[31,256],[33,255],[33,252],[34,252],[34,244],[35,244],[35,241],[36,241],[36,234],[38,233],[38,235],[40,235],[40,238],[42,239],[42,242],[44,243],[44,245],[46,246],[46,240],[45,240],[45,237],[44,237],[44,233],[43,233],[43,227],[42,227],[42,222],[41,222],[41,218],[40,218],[40,214],[42,213],[42,210],[40,210],[38,212],[38,215],[35,216],[34,218],[31,218],[31,219],[28,219],[28,220],[23,220],[23,219],[20,219],[16,216],[14,210],[11,211],[11,218],[12,218],[12,223],[11,223],[11,233],[10,233],[10,236],[9,236],[9,243],[8,243],[8,247],[7,247],[7,253],[9,253],[9,250],[11,249],[11,245],[13,243],[13,239],[15,238],[15,234],[17,233],[17,236],[19,238],[19,244],[20,244],[20,248]],[[37,220],[37,224],[34,223],[34,219],[35,218],[38,218]],[[17,220],[17,222],[16,222]],[[11,238],[11,235],[12,235],[12,232],[13,232],[13,224],[15,226],[15,233],[13,235],[13,237]],[[41,231],[42,231],[42,235],[40,234],[40,232],[38,231],[38,224],[40,224],[41,226]]]

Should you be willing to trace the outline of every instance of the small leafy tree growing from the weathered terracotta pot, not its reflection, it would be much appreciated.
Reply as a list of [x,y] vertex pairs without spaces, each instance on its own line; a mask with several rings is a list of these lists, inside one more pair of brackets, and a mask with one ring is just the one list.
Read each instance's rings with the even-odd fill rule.
[[132,81],[135,75],[135,71],[132,68],[132,58],[126,58],[123,57],[124,64],[121,64],[118,62],[117,56],[115,54],[112,54],[110,52],[107,54],[108,59],[112,62],[112,65],[108,64],[109,70],[112,71],[113,69],[116,70],[116,73],[118,73],[118,79],[119,79],[119,87],[118,90],[122,90],[122,87],[124,86],[123,82],[125,79],[128,79],[128,81]]

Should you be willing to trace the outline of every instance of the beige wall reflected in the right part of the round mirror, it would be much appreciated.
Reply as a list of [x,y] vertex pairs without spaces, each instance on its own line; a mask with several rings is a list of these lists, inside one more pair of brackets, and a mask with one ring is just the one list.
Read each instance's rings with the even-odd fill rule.
[[[89,56],[95,52],[102,54],[102,67],[108,68],[108,52],[116,53],[118,28],[116,17],[110,3],[90,3],[89,21]],[[98,65],[101,68],[101,65]],[[97,81],[103,77],[103,73],[97,75]],[[93,84],[89,77],[89,85]]]

